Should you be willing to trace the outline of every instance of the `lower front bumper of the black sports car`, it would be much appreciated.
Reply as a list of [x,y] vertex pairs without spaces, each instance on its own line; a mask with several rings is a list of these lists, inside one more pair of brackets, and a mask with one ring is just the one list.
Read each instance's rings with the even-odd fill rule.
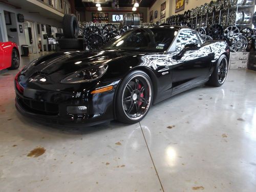
[[[81,94],[78,98],[74,94],[36,91],[34,96],[26,97],[17,89],[15,106],[17,111],[35,121],[47,124],[61,124],[65,126],[93,126],[114,119],[114,96],[118,82],[114,89],[100,94]],[[68,106],[86,105],[87,114],[68,114]]]

